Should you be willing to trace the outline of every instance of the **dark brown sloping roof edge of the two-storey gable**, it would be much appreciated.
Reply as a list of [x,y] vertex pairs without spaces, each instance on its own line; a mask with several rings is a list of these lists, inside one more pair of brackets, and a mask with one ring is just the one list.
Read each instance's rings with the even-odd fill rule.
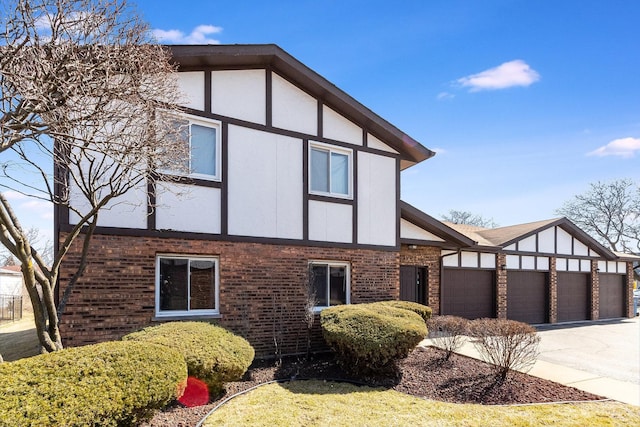
[[433,157],[421,145],[275,44],[168,45],[180,70],[270,68],[400,153],[401,169]]

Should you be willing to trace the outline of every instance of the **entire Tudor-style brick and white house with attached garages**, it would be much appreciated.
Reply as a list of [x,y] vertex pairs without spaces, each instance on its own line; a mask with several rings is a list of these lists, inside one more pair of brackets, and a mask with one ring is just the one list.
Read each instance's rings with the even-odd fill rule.
[[[434,153],[278,46],[171,50],[189,172],[158,174],[101,212],[65,345],[205,320],[261,356],[302,352],[309,289],[316,312],[403,299],[529,323],[632,315],[637,257],[566,219],[484,230],[401,202],[400,171]],[[56,217],[60,241],[78,218]],[[81,250],[65,258],[61,292]]]

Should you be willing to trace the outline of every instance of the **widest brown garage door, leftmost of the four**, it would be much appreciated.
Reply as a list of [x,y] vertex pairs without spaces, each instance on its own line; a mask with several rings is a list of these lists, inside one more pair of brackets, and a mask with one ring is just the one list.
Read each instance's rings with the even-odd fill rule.
[[442,314],[477,319],[495,317],[493,271],[445,268],[442,277]]

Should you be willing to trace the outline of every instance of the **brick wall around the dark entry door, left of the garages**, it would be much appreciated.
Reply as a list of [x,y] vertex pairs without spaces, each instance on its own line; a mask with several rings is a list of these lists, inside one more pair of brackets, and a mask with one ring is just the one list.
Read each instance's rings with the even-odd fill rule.
[[427,267],[427,305],[433,314],[440,314],[440,253],[434,246],[402,245],[400,249],[400,265]]

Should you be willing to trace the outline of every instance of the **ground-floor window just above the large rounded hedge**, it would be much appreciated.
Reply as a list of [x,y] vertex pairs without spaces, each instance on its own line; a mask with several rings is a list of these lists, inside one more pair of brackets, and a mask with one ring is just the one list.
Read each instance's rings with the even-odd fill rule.
[[311,283],[316,294],[316,307],[349,304],[349,265],[333,262],[313,262]]

